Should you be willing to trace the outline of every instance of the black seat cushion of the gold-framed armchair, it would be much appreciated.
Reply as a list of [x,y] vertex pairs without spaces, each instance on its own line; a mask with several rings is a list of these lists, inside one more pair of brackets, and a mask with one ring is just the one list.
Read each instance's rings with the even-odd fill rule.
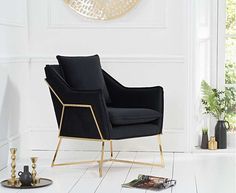
[[108,107],[108,113],[112,125],[148,123],[161,117],[161,113],[145,108]]

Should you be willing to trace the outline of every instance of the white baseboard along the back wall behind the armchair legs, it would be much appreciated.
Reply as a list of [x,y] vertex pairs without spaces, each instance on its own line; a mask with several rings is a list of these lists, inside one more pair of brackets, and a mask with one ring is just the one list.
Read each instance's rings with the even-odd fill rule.
[[[30,131],[30,147],[32,150],[51,151],[55,150],[58,142],[58,131]],[[184,152],[186,144],[184,139],[184,130],[166,131],[162,135],[163,150],[168,152]],[[79,150],[79,151],[100,151],[99,142],[85,140],[62,140],[61,150]],[[156,136],[142,137],[126,140],[114,140],[114,151],[159,151]],[[109,143],[105,145],[105,150],[109,150]]]

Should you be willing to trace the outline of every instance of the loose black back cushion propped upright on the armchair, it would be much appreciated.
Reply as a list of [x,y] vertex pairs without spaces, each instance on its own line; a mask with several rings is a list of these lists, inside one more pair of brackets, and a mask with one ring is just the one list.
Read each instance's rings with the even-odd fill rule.
[[63,69],[66,82],[72,88],[76,90],[102,89],[106,102],[110,102],[98,55],[57,56],[57,60]]

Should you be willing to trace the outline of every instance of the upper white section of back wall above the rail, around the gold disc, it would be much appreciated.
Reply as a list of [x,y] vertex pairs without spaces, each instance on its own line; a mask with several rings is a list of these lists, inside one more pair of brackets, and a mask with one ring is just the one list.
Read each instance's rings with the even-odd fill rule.
[[185,2],[141,0],[123,17],[99,21],[63,0],[29,0],[30,55],[184,55]]

